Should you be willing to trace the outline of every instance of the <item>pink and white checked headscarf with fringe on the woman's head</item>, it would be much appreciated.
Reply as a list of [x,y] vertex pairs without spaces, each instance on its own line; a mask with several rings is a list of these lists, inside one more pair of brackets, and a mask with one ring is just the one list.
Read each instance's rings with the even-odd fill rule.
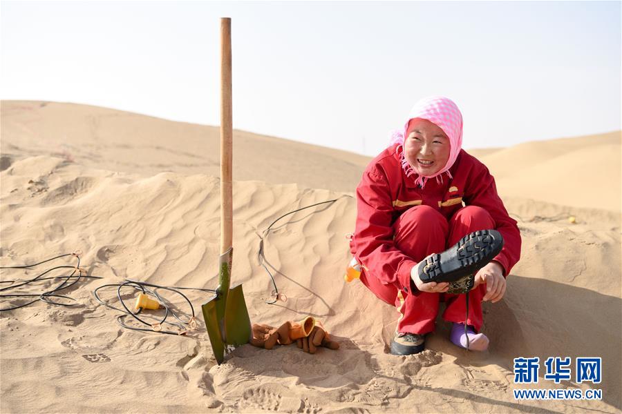
[[411,177],[412,175],[416,175],[415,184],[419,184],[421,187],[425,186],[426,181],[433,177],[436,177],[437,181],[442,182],[442,174],[444,172],[449,175],[449,178],[452,178],[449,168],[453,166],[455,159],[458,158],[458,154],[460,153],[460,148],[462,148],[462,113],[460,113],[458,106],[451,99],[446,97],[435,96],[421,99],[415,103],[411,112],[408,113],[408,121],[406,121],[406,125],[404,125],[404,130],[395,130],[393,132],[390,142],[391,145],[404,145],[404,139],[407,137],[406,133],[408,132],[408,124],[411,119],[414,118],[427,119],[445,132],[447,137],[449,137],[449,159],[447,160],[447,164],[436,174],[420,176],[417,175],[413,167],[406,161],[403,148],[399,148],[399,153],[402,157],[402,168],[404,168],[406,176]]

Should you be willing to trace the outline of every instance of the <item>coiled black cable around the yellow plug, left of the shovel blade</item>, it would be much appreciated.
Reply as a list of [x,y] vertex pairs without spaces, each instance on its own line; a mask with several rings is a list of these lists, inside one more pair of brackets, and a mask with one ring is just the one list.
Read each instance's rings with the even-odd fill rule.
[[[111,286],[115,286],[117,287],[117,299],[119,299],[119,302],[121,302],[121,305],[123,306],[123,308],[117,308],[115,306],[112,306],[111,304],[105,302],[99,295],[99,290],[102,288],[107,288],[107,287],[111,287]],[[132,312],[130,310],[130,308],[128,308],[128,306],[126,306],[123,297],[121,295],[121,289],[124,288],[125,286],[134,288],[135,290],[140,290],[140,293],[144,293],[146,295],[152,295],[153,297],[156,297],[156,299],[158,300],[158,302],[160,303],[160,305],[164,306],[164,316],[163,317],[155,317],[153,315],[147,315],[145,313],[142,313],[142,308],[138,308],[138,311],[136,312]],[[175,313],[170,307],[169,304],[167,303],[166,300],[164,300],[164,298],[162,296],[160,296],[160,294],[155,290],[155,289],[150,289],[149,287],[153,287],[153,288],[158,288],[158,289],[164,289],[164,290],[169,290],[173,293],[177,293],[178,295],[180,295],[183,299],[185,299],[185,301],[187,302],[187,304],[190,307],[190,312],[192,314],[191,317],[189,317],[189,319],[187,321],[183,320],[182,318],[180,318],[177,313]],[[196,329],[196,315],[194,313],[194,306],[192,306],[192,302],[190,302],[190,299],[188,299],[188,297],[186,295],[184,295],[183,293],[181,293],[179,290],[201,290],[203,292],[211,292],[211,293],[215,293],[216,291],[214,289],[206,289],[206,288],[187,288],[187,287],[178,287],[178,286],[160,286],[160,285],[156,285],[156,284],[151,284],[148,282],[139,282],[137,280],[132,280],[132,279],[126,279],[125,282],[120,283],[120,284],[105,284],[102,286],[99,286],[98,288],[96,288],[95,290],[93,290],[93,295],[95,296],[95,300],[97,300],[97,302],[100,302],[100,304],[106,306],[107,308],[111,308],[114,309],[115,311],[120,311],[123,313],[123,315],[118,315],[117,316],[117,324],[119,324],[120,326],[122,326],[123,328],[126,329],[131,329],[132,331],[144,331],[144,332],[158,332],[158,333],[165,333],[167,335],[183,335],[189,331],[194,331],[194,329]],[[138,315],[140,314],[141,317],[138,317]],[[168,321],[167,318],[169,317],[169,315],[171,315],[172,317],[174,317],[175,319],[178,320],[178,322],[171,322]],[[136,319],[138,322],[140,322],[141,324],[147,325],[149,326],[149,328],[139,328],[136,326],[129,326],[128,324],[126,324],[124,322],[124,319],[128,316],[133,317],[134,319]],[[145,321],[144,318],[147,319],[153,319],[156,322],[153,324],[150,324],[149,322]],[[176,326],[178,328],[178,331],[162,331],[162,324],[167,324],[167,325],[171,325],[171,326]]]

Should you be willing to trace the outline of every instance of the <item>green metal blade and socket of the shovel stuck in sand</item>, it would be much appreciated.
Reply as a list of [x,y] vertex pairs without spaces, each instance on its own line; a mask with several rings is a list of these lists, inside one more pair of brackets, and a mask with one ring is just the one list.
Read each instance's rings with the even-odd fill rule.
[[211,349],[218,365],[225,360],[227,345],[247,344],[252,335],[242,284],[229,288],[232,255],[233,249],[229,248],[218,258],[220,271],[216,295],[201,306]]

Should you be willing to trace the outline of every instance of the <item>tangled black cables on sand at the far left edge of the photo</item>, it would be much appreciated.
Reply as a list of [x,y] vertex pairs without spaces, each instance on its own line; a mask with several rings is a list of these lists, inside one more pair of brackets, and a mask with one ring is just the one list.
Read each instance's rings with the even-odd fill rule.
[[[27,265],[23,265],[23,266],[0,266],[0,269],[32,269],[35,268],[36,266],[39,266],[40,264],[44,264],[47,262],[51,262],[53,260],[56,259],[60,259],[62,257],[66,257],[66,256],[74,256],[77,259],[77,264],[75,266],[55,266],[53,268],[50,268],[48,270],[45,270],[43,273],[40,273],[39,275],[32,277],[32,279],[15,279],[15,280],[5,280],[5,281],[1,281],[0,283],[12,283],[10,286],[6,286],[3,288],[0,288],[0,292],[3,291],[7,291],[7,290],[12,290],[15,288],[20,288],[22,286],[28,286],[30,284],[33,284],[35,282],[40,282],[42,280],[50,280],[50,279],[64,279],[62,281],[61,284],[59,284],[58,286],[56,286],[55,288],[51,289],[51,290],[44,290],[41,293],[6,293],[3,295],[0,295],[0,298],[4,298],[4,297],[37,297],[37,299],[31,300],[30,302],[26,302],[23,304],[19,304],[17,306],[12,306],[10,308],[3,308],[0,309],[0,312],[4,312],[4,311],[14,311],[15,309],[19,309],[19,308],[24,308],[26,306],[29,306],[31,304],[34,304],[37,301],[41,301],[41,302],[46,302],[48,304],[51,305],[57,305],[57,306],[75,306],[76,304],[72,304],[72,303],[63,303],[63,302],[57,302],[54,301],[52,299],[50,299],[51,297],[57,297],[57,298],[62,298],[62,299],[68,299],[71,300],[73,302],[75,302],[75,299],[73,299],[72,297],[69,297],[67,295],[57,295],[56,293],[59,292],[59,290],[65,290],[70,288],[71,286],[77,284],[77,282],[80,281],[80,279],[82,279],[82,277],[87,277],[86,276],[86,270],[80,268],[80,255],[82,255],[82,251],[81,250],[76,250],[73,253],[67,253],[65,255],[58,255],[56,257],[52,257],[51,259],[46,259],[43,262],[39,262],[39,263],[35,263],[35,264],[27,264]],[[73,269],[73,272],[70,275],[62,275],[62,276],[53,276],[53,277],[42,277],[44,275],[46,275],[47,273],[50,273],[53,270],[57,270],[57,269],[61,269],[61,268],[71,268]],[[78,273],[76,275],[76,272]],[[84,273],[84,275],[82,274]],[[101,277],[97,277],[97,276],[88,276],[89,278],[92,279],[101,279]],[[74,279],[73,282],[69,281],[71,279]],[[16,284],[16,282],[18,282]],[[0,299],[1,300],[1,299]]]

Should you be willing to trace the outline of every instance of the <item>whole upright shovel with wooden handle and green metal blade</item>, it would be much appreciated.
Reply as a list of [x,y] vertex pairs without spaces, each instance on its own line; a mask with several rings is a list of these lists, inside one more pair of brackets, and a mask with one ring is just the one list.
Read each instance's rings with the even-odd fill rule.
[[231,19],[220,19],[220,257],[216,294],[202,304],[216,362],[229,346],[249,342],[252,332],[242,284],[229,288],[233,257]]

